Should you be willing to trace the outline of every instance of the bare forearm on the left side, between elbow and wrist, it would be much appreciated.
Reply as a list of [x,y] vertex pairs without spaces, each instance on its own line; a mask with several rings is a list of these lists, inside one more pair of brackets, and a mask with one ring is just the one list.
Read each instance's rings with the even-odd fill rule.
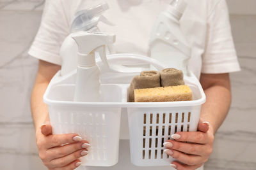
[[36,131],[41,124],[49,120],[48,108],[43,101],[47,86],[48,83],[35,83],[31,94],[31,112]]

